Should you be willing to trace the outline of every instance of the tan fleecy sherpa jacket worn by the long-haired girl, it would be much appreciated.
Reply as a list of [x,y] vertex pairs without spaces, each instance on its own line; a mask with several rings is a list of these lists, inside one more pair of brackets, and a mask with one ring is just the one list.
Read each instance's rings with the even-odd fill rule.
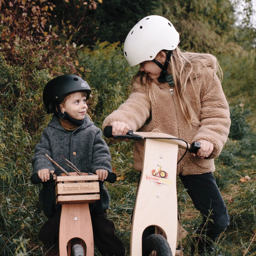
[[[154,96],[150,98],[139,83],[134,82],[132,93],[119,108],[103,122],[103,128],[112,121],[121,121],[129,124],[132,130],[140,132],[161,132],[174,135],[186,140],[188,143],[207,140],[214,145],[212,154],[208,159],[193,157],[187,153],[177,166],[177,173],[181,175],[194,175],[213,172],[215,170],[214,158],[217,157],[229,134],[230,117],[229,106],[222,90],[220,81],[212,68],[201,69],[200,74],[194,75],[195,89],[190,81],[187,82],[186,92],[190,97],[191,106],[196,113],[198,122],[189,126],[178,102],[175,86],[152,82]],[[170,91],[172,89],[172,93]],[[151,114],[151,119],[145,124]],[[184,150],[180,150],[180,159]],[[143,140],[134,142],[134,167],[142,169]]]

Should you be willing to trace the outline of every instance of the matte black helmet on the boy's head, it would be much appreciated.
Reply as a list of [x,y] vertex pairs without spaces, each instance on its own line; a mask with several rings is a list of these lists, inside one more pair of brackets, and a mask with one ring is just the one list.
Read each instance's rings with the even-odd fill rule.
[[90,86],[87,82],[77,75],[61,75],[50,80],[43,90],[43,103],[46,108],[46,112],[55,113],[56,103],[73,92],[86,92],[87,99],[91,93]]

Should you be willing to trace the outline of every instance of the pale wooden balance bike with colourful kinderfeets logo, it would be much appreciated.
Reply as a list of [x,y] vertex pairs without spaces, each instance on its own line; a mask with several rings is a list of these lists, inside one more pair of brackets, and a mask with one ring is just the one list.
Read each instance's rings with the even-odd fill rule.
[[[112,127],[106,127],[104,135],[113,137]],[[175,255],[178,148],[196,153],[201,143],[190,145],[169,134],[154,132],[129,131],[127,135],[114,138],[145,140],[143,170],[132,219],[130,256]],[[155,226],[155,234],[149,235],[142,245],[143,232],[149,226]]]

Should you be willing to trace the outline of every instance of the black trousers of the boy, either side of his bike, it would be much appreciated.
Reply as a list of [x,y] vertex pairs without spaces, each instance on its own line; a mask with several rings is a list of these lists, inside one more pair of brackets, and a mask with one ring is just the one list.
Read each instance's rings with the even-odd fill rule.
[[[58,251],[60,212],[60,209],[56,210],[39,232],[39,239],[46,250],[53,247],[53,250]],[[123,242],[116,236],[114,223],[107,218],[106,211],[100,214],[91,213],[91,221],[94,242],[100,253],[103,256],[123,256],[125,254]]]

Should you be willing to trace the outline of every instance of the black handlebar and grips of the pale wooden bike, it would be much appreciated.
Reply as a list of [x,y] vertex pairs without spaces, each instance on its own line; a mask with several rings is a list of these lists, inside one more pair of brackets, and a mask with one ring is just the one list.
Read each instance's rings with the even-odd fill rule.
[[[133,140],[142,140],[146,139],[138,134],[134,134],[133,130],[129,130],[129,132],[126,135],[112,135],[112,126],[106,126],[103,130],[103,134],[107,138],[114,138],[114,139],[133,139]],[[163,139],[163,138],[161,138]],[[174,139],[174,138],[166,138],[166,139]],[[177,138],[176,138],[177,139]],[[184,140],[183,140],[184,141]],[[199,148],[201,147],[200,142],[193,142],[192,144],[187,143],[187,150],[190,153],[196,154]]]

